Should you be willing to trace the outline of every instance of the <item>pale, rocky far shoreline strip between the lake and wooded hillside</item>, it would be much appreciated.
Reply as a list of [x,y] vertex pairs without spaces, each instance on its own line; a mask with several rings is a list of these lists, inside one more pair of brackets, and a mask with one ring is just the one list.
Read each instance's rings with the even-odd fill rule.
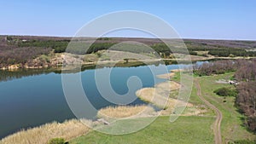
[[[9,65],[9,66],[3,66],[0,68],[0,70],[3,71],[19,71],[21,69],[29,70],[29,69],[52,69],[55,71],[58,70],[68,70],[72,69],[73,66],[81,66],[83,67],[89,67],[89,66],[110,66],[112,64],[115,64],[115,66],[137,66],[137,65],[146,65],[150,63],[157,63],[160,61],[163,61],[166,64],[177,64],[179,63],[188,63],[188,62],[195,62],[195,61],[205,61],[205,60],[237,60],[237,59],[252,59],[255,57],[202,57],[200,59],[152,59],[152,60],[102,60],[102,61],[92,61],[92,62],[76,62],[74,64],[67,64],[66,66],[70,66],[70,68],[65,67],[64,64],[61,63],[61,61],[58,62],[52,62],[54,65],[49,63],[44,63],[42,66],[37,66],[38,61],[32,64],[32,66],[27,66],[27,64],[15,64],[15,65]],[[41,61],[42,62],[42,61]]]

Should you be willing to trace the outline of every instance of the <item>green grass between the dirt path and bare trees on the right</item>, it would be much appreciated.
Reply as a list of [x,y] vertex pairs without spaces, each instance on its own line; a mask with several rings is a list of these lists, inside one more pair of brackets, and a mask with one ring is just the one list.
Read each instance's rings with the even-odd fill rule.
[[[217,84],[216,81],[219,79],[229,79],[234,75],[233,72],[215,75],[215,76],[205,76],[201,77],[201,93],[210,101],[215,107],[223,114],[223,120],[221,123],[221,132],[223,142],[235,141],[235,140],[252,140],[256,138],[256,135],[248,132],[247,129],[243,126],[242,118],[244,116],[237,112],[235,107],[235,97],[224,97],[218,96],[213,93],[215,89],[223,87],[233,87],[230,84]],[[226,101],[226,102],[224,102]]]

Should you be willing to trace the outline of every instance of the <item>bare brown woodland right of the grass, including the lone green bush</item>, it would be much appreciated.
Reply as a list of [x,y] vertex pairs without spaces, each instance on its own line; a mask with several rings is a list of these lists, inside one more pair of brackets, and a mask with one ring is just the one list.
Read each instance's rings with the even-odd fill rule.
[[[194,72],[199,76],[209,76],[224,72],[235,72],[236,106],[247,116],[249,130],[256,132],[256,59],[251,60],[218,60],[194,66]],[[215,93],[227,94],[229,89],[218,89]],[[233,95],[233,94],[232,94]]]

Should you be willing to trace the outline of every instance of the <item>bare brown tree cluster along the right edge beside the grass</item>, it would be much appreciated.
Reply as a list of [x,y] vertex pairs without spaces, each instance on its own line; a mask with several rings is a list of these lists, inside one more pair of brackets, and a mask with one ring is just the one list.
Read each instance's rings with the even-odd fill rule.
[[235,74],[235,78],[240,81],[236,87],[236,105],[247,116],[249,130],[256,132],[256,59],[240,60],[240,63]]

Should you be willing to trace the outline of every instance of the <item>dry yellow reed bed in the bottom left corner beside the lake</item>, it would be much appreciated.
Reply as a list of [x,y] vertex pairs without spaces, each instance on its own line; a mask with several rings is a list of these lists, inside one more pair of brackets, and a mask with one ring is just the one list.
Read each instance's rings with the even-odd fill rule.
[[85,124],[77,119],[67,120],[64,123],[50,123],[21,130],[9,135],[0,141],[0,144],[46,144],[52,138],[64,138],[66,141],[84,135],[90,131]]

